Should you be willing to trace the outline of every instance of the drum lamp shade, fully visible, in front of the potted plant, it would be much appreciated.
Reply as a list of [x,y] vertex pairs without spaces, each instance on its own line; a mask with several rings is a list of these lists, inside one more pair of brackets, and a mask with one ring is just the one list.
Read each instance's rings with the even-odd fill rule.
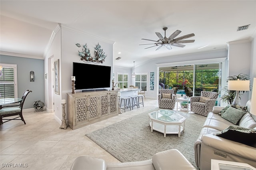
[[249,91],[250,90],[250,80],[229,80],[228,90],[234,91]]

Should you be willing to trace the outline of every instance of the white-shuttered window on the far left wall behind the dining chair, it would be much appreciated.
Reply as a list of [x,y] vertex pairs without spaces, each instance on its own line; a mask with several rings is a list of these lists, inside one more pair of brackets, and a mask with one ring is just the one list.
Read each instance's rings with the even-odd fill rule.
[[2,66],[0,76],[0,94],[2,98],[17,97],[17,70],[16,65],[0,64]]

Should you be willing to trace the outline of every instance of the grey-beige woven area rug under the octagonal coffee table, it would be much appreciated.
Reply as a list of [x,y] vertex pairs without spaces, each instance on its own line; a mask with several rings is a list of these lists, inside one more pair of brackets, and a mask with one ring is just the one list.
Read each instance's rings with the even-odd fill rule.
[[168,149],[178,149],[196,167],[194,161],[194,142],[202,129],[206,117],[195,113],[177,112],[186,118],[185,132],[164,134],[151,132],[148,113],[150,110],[120,121],[108,127],[86,134],[104,150],[121,162],[151,159],[157,153]]

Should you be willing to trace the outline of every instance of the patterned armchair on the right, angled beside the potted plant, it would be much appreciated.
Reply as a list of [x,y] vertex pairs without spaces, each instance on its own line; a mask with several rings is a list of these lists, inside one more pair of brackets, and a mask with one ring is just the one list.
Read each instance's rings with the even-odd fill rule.
[[219,93],[213,91],[201,91],[201,96],[190,97],[191,111],[198,115],[207,116],[215,106],[218,95]]

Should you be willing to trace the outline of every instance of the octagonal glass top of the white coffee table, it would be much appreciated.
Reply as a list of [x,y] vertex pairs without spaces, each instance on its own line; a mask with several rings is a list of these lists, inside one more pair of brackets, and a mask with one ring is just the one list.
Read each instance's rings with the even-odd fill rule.
[[175,113],[174,111],[164,109],[149,113],[149,116],[153,119],[165,122],[181,122],[185,119],[182,115]]

